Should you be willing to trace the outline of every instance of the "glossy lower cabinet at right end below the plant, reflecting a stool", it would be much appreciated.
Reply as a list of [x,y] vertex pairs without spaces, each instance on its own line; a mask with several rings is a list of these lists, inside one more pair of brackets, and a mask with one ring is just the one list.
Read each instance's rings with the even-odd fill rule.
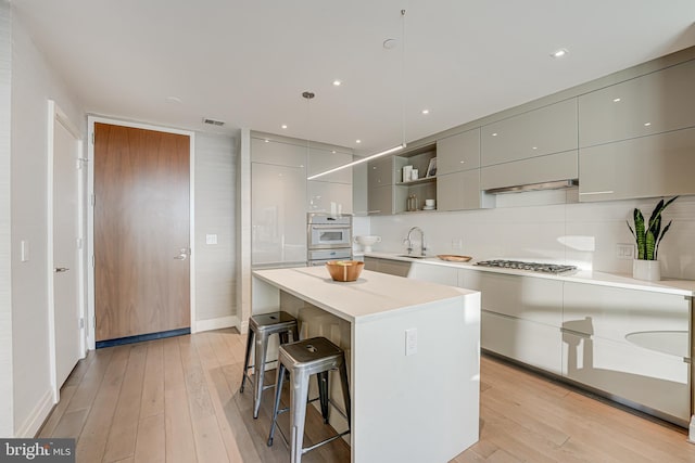
[[563,375],[686,425],[691,301],[570,282],[564,293]]

